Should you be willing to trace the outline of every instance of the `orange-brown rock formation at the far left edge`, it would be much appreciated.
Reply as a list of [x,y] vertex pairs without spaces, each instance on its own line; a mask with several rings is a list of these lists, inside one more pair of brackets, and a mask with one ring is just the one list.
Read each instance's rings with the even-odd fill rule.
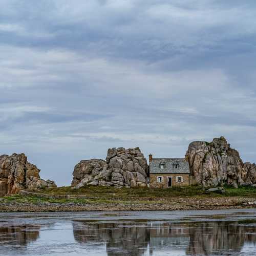
[[39,172],[25,154],[0,156],[0,196],[16,194],[22,189],[56,187],[53,181],[40,179]]

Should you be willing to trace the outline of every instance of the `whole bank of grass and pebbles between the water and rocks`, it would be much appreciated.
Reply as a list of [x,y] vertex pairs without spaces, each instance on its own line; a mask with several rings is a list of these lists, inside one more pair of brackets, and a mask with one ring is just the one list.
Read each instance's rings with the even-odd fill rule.
[[[37,191],[47,195],[73,195],[82,198],[55,199],[11,195],[0,199],[0,211],[97,211],[97,210],[193,210],[244,207],[256,201],[256,188],[225,186],[225,193],[206,193],[200,186],[173,188],[58,187]],[[256,207],[256,205],[247,205]]]

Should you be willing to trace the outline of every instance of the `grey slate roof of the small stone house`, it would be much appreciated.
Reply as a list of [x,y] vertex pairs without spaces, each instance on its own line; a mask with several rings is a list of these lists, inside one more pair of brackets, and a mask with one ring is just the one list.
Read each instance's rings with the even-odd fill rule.
[[[160,164],[164,164],[164,168],[161,169]],[[178,164],[178,168],[174,168],[174,165]],[[189,164],[185,161],[185,158],[153,158],[150,162],[150,173],[153,174],[189,174]]]

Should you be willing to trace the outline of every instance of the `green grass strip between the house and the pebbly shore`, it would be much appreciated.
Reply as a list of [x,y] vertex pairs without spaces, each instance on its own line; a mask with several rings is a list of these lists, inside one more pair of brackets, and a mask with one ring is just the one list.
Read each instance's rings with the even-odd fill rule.
[[252,186],[225,186],[225,194],[205,193],[201,186],[185,186],[172,188],[115,188],[88,186],[79,189],[71,187],[58,187],[51,189],[41,189],[38,193],[52,195],[74,195],[85,196],[86,198],[78,199],[48,199],[36,196],[12,195],[4,197],[3,202],[19,203],[93,203],[93,204],[157,204],[171,202],[175,198],[193,197],[195,199],[207,199],[213,197],[250,197],[256,198],[256,188]]

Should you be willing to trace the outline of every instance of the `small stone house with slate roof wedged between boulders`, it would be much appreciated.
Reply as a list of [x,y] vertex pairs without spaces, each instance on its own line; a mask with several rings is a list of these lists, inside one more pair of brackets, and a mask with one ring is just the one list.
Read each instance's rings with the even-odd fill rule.
[[190,170],[188,156],[185,158],[153,158],[150,162],[150,186],[172,187],[187,186],[190,184]]

